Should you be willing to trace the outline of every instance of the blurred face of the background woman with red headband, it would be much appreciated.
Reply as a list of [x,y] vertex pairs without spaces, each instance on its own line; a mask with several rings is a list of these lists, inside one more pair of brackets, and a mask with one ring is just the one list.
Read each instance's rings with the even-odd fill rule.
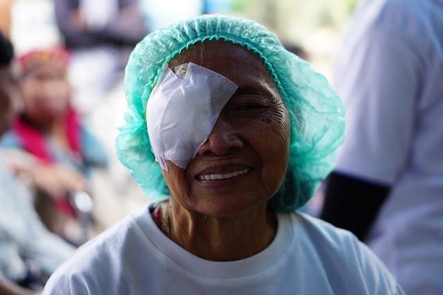
[[69,106],[71,86],[63,66],[48,62],[26,73],[21,83],[25,113],[37,124],[61,117]]

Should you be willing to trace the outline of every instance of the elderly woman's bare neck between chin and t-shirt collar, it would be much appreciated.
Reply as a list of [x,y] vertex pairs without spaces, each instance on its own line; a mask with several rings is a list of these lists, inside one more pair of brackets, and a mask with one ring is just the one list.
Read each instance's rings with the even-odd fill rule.
[[217,218],[188,211],[170,200],[171,239],[192,254],[213,261],[251,257],[268,247],[277,218],[266,203],[235,218]]

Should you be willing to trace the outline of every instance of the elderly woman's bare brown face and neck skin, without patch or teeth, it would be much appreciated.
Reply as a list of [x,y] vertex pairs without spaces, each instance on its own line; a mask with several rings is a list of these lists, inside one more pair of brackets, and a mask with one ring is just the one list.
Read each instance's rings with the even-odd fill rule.
[[[197,44],[170,62],[193,62],[239,88],[186,169],[167,161],[171,239],[217,261],[257,254],[273,240],[275,213],[266,208],[282,184],[289,157],[289,113],[263,62],[221,41]],[[180,140],[179,138],[177,140]],[[247,173],[219,180],[201,175]]]

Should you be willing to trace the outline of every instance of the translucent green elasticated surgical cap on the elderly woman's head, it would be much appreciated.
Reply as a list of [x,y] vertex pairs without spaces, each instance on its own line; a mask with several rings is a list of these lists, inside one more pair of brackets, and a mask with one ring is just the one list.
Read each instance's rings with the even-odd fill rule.
[[169,198],[147,135],[147,99],[163,66],[175,55],[192,44],[214,39],[252,50],[269,69],[291,113],[287,173],[269,205],[280,212],[302,207],[334,168],[336,149],[343,142],[344,106],[323,75],[289,53],[275,34],[255,21],[203,15],[152,32],[134,48],[125,73],[128,112],[116,139],[118,159],[148,198]]

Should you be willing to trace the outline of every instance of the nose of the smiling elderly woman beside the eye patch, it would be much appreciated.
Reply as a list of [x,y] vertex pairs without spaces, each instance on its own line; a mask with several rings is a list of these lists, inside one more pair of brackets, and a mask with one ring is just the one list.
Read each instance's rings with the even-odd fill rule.
[[200,155],[226,155],[230,149],[242,149],[244,142],[237,130],[223,117],[219,117],[208,140],[199,148]]

